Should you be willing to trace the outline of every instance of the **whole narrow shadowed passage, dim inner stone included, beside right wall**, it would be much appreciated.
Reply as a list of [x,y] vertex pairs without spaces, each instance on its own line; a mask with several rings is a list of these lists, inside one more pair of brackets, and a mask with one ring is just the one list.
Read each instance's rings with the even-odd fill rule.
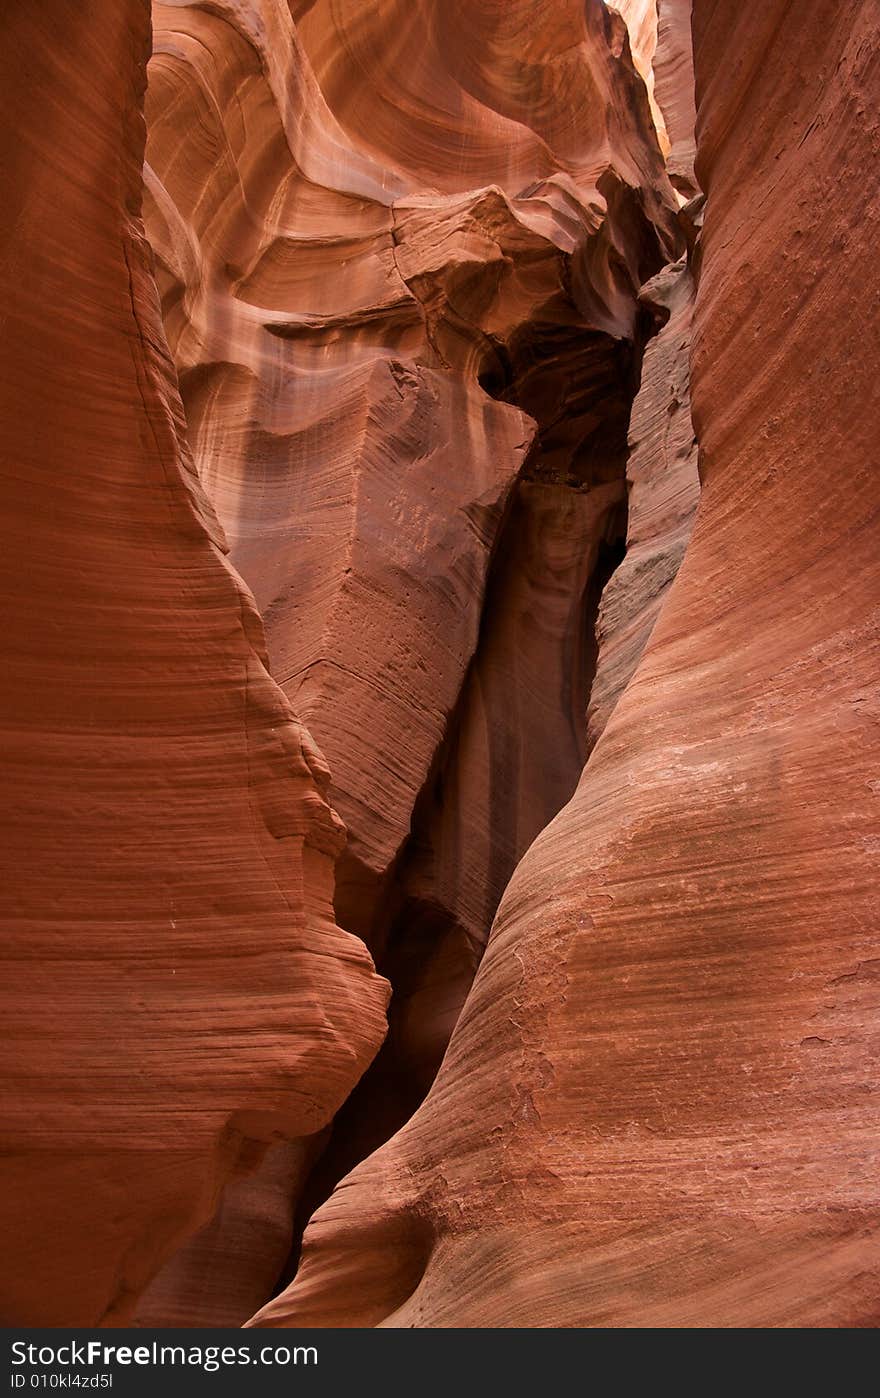
[[[424,1099],[511,874],[583,770],[599,604],[627,537],[632,365],[631,354],[611,347],[614,370],[585,394],[595,442],[572,417],[567,449],[553,424],[550,450],[539,418],[511,492],[474,654],[414,801],[371,942],[393,987],[388,1039],[337,1114],[304,1194],[302,1220]],[[595,352],[588,362],[592,368]],[[547,366],[578,384],[564,356],[548,356]],[[534,397],[530,405],[537,407]],[[337,914],[344,921],[339,905]]]

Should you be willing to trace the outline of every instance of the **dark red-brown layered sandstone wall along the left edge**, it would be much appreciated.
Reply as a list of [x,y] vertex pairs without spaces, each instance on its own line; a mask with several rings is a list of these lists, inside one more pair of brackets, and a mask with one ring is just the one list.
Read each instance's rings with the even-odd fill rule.
[[139,218],[148,48],[137,0],[0,20],[7,1324],[123,1321],[383,1030],[333,920],[326,770],[182,435]]

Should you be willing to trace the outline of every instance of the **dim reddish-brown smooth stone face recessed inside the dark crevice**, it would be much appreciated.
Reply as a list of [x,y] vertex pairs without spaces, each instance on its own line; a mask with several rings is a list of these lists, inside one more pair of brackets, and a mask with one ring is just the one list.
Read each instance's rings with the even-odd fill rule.
[[623,496],[621,481],[586,492],[526,481],[518,492],[452,751],[416,821],[386,962],[397,987],[390,1046],[423,1095],[511,874],[583,768],[597,562]]

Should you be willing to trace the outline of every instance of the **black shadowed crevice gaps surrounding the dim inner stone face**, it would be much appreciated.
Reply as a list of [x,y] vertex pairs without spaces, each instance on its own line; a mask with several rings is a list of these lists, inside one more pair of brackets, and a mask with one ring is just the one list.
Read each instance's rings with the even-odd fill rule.
[[[523,327],[511,345],[495,341],[487,347],[480,369],[483,389],[529,412],[537,422],[537,435],[498,530],[474,657],[416,802],[410,836],[383,891],[379,935],[372,949],[378,969],[393,987],[389,1033],[374,1064],[337,1113],[312,1169],[297,1211],[294,1247],[277,1290],[288,1286],[297,1274],[302,1233],[315,1211],[346,1174],[410,1120],[427,1096],[478,969],[497,903],[525,853],[509,847],[492,851],[497,860],[487,879],[491,891],[481,937],[474,937],[473,928],[425,888],[430,879],[424,878],[424,871],[437,860],[438,812],[460,798],[456,784],[469,693],[480,682],[481,657],[506,605],[511,572],[516,570],[512,555],[522,540],[518,519],[527,509],[529,491],[537,491],[539,496],[541,491],[555,492],[560,499],[575,495],[583,509],[590,492],[603,491],[610,496],[609,507],[599,517],[589,576],[574,600],[582,643],[562,664],[572,670],[569,678],[576,695],[567,714],[571,728],[576,730],[572,731],[572,759],[557,801],[541,812],[534,835],[561,809],[581,777],[588,758],[586,713],[597,661],[599,604],[627,547],[630,412],[639,386],[644,343],[655,330],[651,319],[642,316],[631,343],[583,326],[548,322]],[[518,761],[515,751],[508,761]],[[504,773],[499,780],[504,786]],[[431,1032],[420,1035],[420,1015],[425,1022],[428,1018],[437,1021]]]

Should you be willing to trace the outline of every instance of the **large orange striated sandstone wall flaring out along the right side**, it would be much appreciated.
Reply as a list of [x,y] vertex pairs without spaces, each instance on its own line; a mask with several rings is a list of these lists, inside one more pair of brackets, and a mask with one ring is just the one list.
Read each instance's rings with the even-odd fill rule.
[[880,42],[867,3],[694,27],[684,565],[424,1106],[259,1324],[876,1323]]

